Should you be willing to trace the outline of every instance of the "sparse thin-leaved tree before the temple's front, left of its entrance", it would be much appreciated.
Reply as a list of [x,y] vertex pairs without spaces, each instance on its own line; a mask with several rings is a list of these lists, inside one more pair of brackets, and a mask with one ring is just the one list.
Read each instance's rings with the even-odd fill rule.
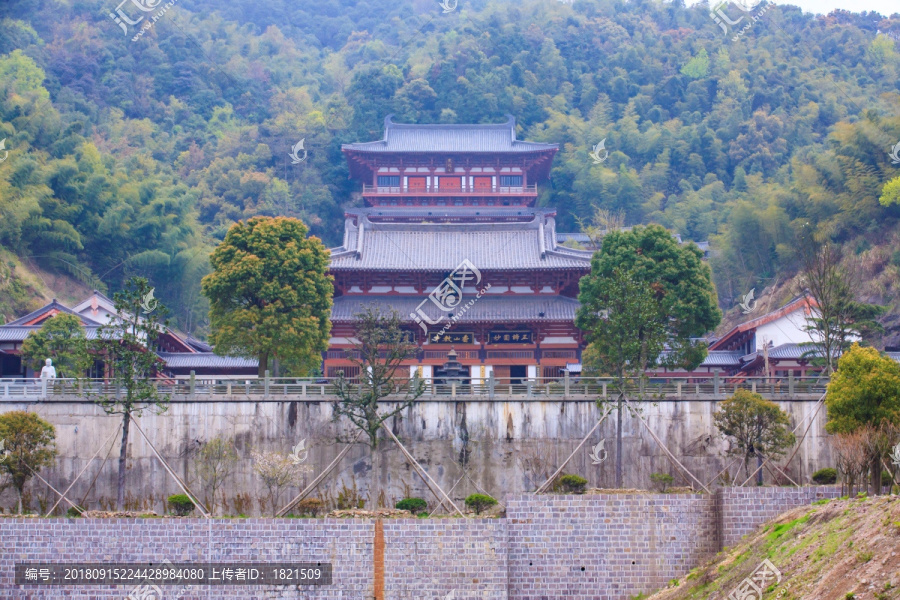
[[[334,418],[345,416],[369,436],[372,449],[378,445],[381,424],[412,406],[425,393],[425,382],[416,374],[410,379],[402,367],[403,361],[415,356],[417,346],[407,340],[400,329],[400,315],[392,310],[381,312],[377,306],[367,306],[354,315],[356,339],[347,359],[359,375],[349,378],[341,371],[334,384],[338,400],[334,403]],[[398,377],[398,371],[401,371]],[[378,401],[396,395],[397,405],[379,412]]]

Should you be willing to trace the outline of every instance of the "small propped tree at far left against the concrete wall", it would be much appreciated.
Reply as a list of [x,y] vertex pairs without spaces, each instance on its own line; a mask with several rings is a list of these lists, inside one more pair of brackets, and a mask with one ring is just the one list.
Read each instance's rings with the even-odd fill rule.
[[0,472],[6,473],[19,496],[22,514],[25,484],[42,467],[56,461],[56,430],[36,414],[13,410],[0,415]]

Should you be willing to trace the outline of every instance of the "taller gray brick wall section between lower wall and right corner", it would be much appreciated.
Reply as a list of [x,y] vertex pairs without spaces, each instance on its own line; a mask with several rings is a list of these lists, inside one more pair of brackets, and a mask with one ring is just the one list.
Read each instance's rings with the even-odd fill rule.
[[702,496],[516,496],[510,598],[620,599],[666,585],[718,549]]

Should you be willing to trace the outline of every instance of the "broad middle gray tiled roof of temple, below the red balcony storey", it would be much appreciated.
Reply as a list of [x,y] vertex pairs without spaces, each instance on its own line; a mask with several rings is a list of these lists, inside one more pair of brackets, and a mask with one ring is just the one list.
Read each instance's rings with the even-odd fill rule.
[[542,213],[527,223],[373,223],[365,216],[357,223],[346,220],[332,270],[450,272],[464,259],[482,271],[586,271],[591,264],[591,252],[557,245],[554,220]]

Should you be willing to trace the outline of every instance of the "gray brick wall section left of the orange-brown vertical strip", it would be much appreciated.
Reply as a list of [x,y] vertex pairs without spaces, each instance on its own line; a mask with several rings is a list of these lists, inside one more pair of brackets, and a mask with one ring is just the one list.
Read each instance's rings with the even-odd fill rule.
[[[3,600],[123,600],[128,586],[13,585],[19,562],[138,563],[303,562],[333,565],[333,584],[296,588],[208,586],[180,600],[372,597],[374,524],[361,519],[0,519],[0,598]],[[160,586],[175,600],[179,586]],[[154,599],[156,600],[156,599]]]

